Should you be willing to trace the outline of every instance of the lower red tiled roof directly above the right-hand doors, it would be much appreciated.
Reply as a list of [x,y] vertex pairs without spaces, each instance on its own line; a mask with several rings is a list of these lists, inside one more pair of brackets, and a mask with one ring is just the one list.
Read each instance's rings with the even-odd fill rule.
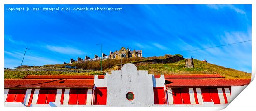
[[168,87],[216,87],[248,85],[251,79],[165,79]]

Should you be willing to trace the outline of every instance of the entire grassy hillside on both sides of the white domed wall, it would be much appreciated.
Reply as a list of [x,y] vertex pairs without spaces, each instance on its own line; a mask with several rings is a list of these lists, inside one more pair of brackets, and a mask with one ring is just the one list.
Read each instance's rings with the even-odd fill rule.
[[[151,57],[152,58],[152,57]],[[164,57],[162,57],[164,58]],[[150,59],[150,58],[146,58]],[[153,59],[158,59],[153,57]],[[131,61],[143,61],[145,58],[133,58],[127,59],[123,63],[131,62]],[[111,62],[113,61],[113,62]],[[175,63],[168,63],[168,64],[152,64],[152,63],[139,63],[135,64],[138,70],[148,70],[151,74],[220,74],[225,76],[228,79],[250,79],[251,73],[246,73],[243,71],[238,71],[231,68],[225,68],[222,66],[218,66],[215,64],[210,64],[207,62],[199,61],[194,59],[194,68],[186,68],[185,67],[186,59],[180,60]],[[91,63],[75,63],[72,66],[95,66],[98,69],[100,62],[99,61],[92,61]],[[116,64],[119,64],[118,60],[111,60],[103,61],[102,66],[103,69],[107,70]],[[80,69],[65,69],[65,68],[22,68],[22,69],[15,69],[15,70],[5,70],[5,78],[23,78],[26,75],[102,75],[104,71],[97,71],[94,70],[93,67],[89,68],[90,70],[80,70]]]

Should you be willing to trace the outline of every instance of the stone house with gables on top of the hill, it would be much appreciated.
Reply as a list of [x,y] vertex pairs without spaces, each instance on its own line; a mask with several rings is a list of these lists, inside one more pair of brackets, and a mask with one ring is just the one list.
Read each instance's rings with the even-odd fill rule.
[[109,59],[121,59],[122,58],[131,58],[131,57],[142,57],[142,50],[133,50],[129,48],[122,47],[119,51],[109,53]]

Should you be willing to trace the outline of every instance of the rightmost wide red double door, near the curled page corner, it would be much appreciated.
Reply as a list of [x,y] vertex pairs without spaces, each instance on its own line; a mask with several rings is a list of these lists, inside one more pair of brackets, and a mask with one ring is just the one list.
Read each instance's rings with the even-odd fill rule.
[[201,88],[201,92],[204,102],[214,102],[214,104],[220,104],[217,88]]

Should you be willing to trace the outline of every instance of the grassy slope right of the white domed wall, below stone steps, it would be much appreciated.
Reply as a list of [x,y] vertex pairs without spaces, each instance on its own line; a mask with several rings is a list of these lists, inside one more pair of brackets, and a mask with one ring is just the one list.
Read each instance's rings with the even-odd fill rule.
[[185,68],[185,59],[169,64],[142,64],[138,70],[148,70],[152,74],[220,74],[228,79],[250,79],[251,73],[225,68],[193,59],[194,68]]

